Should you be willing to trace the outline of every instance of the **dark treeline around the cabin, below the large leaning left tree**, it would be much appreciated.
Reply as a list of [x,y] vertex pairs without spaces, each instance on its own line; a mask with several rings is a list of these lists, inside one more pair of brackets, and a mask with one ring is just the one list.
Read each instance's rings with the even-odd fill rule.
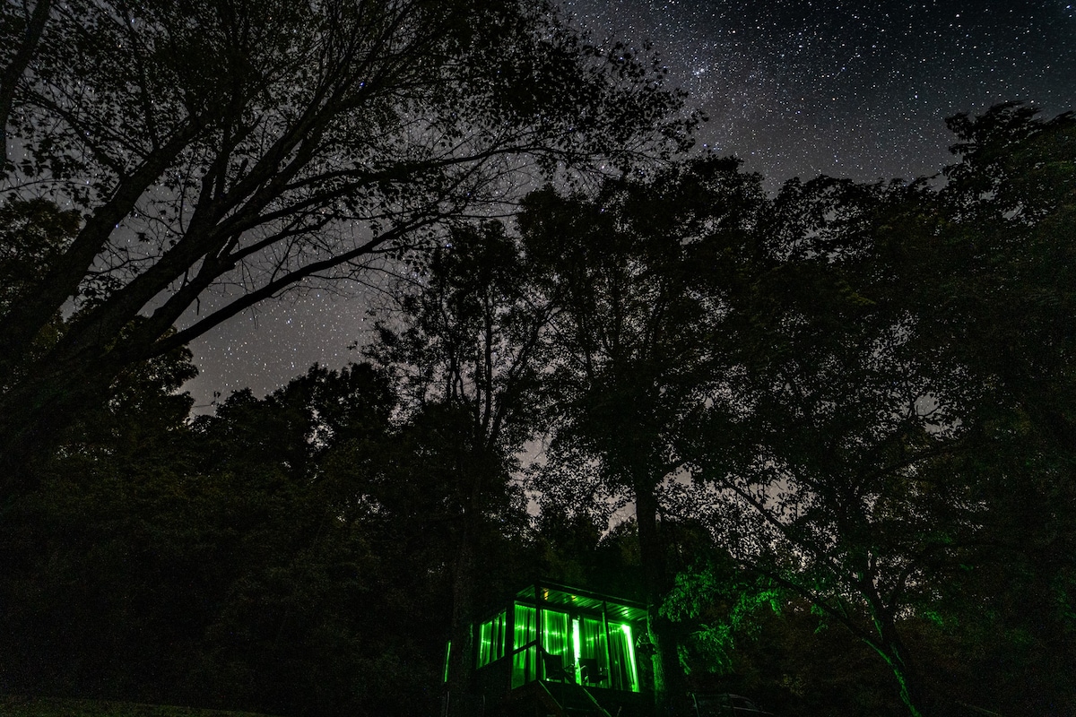
[[[706,156],[455,221],[362,361],[210,416],[132,363],[3,505],[0,689],[433,714],[541,573],[648,604],[663,714],[1074,714],[1076,119],[950,128],[931,180]],[[3,211],[17,292],[77,223]]]

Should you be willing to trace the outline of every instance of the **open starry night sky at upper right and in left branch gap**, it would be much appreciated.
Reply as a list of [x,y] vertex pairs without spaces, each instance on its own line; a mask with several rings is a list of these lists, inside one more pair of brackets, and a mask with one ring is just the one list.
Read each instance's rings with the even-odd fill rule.
[[[951,160],[945,117],[1007,100],[1076,110],[1076,0],[567,0],[603,44],[652,43],[710,120],[698,143],[776,189],[793,176],[915,177]],[[194,344],[197,411],[358,360],[368,293],[312,291]]]

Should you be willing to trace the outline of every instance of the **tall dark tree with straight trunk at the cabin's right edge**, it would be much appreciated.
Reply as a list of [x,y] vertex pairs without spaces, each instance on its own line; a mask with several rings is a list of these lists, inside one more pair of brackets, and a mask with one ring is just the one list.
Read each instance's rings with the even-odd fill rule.
[[[762,205],[759,177],[706,157],[594,198],[532,195],[521,216],[541,288],[558,297],[557,353],[547,370],[555,415],[544,486],[634,501],[657,709],[684,690],[660,516],[685,459],[675,436],[702,407],[722,281]],[[580,467],[591,465],[590,485]]]

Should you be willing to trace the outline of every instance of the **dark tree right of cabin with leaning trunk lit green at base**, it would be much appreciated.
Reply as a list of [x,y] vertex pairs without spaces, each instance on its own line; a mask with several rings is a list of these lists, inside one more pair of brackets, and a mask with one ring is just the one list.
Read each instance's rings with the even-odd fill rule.
[[[858,214],[859,188],[832,189],[809,184],[804,199]],[[711,525],[736,559],[872,646],[918,715],[926,698],[900,621],[968,537],[974,501],[942,460],[962,438],[964,397],[909,341],[906,307],[865,281],[874,257],[864,267],[832,239],[737,297],[744,368],[682,450],[717,491]]]

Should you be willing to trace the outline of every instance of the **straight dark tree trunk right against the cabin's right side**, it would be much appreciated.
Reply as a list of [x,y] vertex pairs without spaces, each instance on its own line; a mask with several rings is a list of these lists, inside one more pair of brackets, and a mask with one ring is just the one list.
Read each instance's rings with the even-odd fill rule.
[[665,564],[665,546],[657,532],[657,500],[648,482],[635,485],[636,520],[639,527],[639,556],[647,594],[647,629],[654,654],[654,708],[659,717],[674,712],[674,703],[684,691],[683,669],[680,666],[679,644],[669,620],[660,613],[668,592],[669,577]]

